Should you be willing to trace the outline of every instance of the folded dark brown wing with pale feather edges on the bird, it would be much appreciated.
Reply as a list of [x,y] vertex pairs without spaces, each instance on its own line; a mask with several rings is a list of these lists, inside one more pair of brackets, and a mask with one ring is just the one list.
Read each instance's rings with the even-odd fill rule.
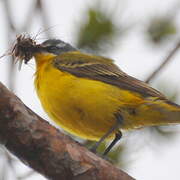
[[137,92],[144,97],[166,99],[159,91],[148,84],[121,71],[112,60],[80,52],[63,53],[55,58],[54,66],[77,77],[102,81],[122,89]]

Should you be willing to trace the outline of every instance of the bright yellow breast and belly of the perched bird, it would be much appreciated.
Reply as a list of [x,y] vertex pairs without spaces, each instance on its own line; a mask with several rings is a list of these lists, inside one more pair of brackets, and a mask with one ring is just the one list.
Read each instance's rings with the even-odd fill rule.
[[[35,87],[43,108],[57,124],[89,140],[99,140],[115,124],[114,115],[121,107],[142,101],[128,91],[75,77],[51,65],[36,72]],[[126,120],[122,128],[129,124]]]

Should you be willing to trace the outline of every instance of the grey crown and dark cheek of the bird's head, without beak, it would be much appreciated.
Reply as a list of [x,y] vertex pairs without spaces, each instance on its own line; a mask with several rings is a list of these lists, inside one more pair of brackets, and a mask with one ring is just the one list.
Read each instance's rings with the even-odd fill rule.
[[41,44],[41,46],[43,50],[45,50],[46,52],[53,53],[56,55],[59,55],[68,51],[77,51],[76,48],[74,48],[70,44],[65,43],[64,41],[61,41],[59,39],[46,40]]

